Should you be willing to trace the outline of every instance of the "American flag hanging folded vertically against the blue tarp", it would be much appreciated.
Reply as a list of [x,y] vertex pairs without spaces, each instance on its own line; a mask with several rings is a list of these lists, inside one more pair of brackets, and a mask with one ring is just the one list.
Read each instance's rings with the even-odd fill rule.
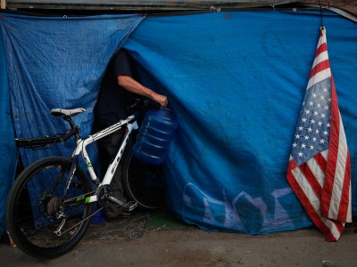
[[345,223],[352,222],[350,152],[329,66],[324,27],[320,28],[286,176],[326,240],[338,240]]

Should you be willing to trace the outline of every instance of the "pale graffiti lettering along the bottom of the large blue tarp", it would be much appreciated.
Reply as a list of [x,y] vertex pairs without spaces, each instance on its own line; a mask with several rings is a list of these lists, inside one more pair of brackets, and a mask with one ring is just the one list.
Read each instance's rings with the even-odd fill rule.
[[270,198],[254,198],[242,190],[236,197],[228,198],[226,190],[223,190],[221,198],[212,198],[194,183],[188,182],[183,191],[183,202],[187,213],[201,216],[207,225],[256,233],[266,227],[271,228],[276,222],[284,223],[287,228],[294,225],[280,201],[280,198],[292,193],[287,187],[273,190]]

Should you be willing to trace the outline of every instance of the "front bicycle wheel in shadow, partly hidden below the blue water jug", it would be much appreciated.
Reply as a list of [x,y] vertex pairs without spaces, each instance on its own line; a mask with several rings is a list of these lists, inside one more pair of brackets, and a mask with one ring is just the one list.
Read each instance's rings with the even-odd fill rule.
[[127,197],[145,209],[166,205],[162,165],[152,166],[135,158],[129,146],[123,166],[123,184]]

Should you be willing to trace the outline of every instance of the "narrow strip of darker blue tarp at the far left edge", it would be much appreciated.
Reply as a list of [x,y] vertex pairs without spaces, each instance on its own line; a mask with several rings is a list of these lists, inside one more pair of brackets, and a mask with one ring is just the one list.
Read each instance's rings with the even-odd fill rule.
[[16,167],[17,150],[13,142],[14,130],[12,125],[9,90],[7,85],[6,62],[3,36],[0,32],[0,236],[5,231],[5,205],[7,192],[12,185]]

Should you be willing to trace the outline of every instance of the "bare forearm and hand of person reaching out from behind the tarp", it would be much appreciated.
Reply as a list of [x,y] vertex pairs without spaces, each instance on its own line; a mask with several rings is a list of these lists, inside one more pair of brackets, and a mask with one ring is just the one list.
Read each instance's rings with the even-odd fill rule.
[[118,75],[117,81],[118,85],[120,85],[131,93],[137,93],[151,98],[153,101],[158,102],[164,107],[168,105],[167,96],[162,95],[160,93],[155,93],[153,90],[145,87],[144,85],[141,85],[139,82],[137,82],[132,77],[129,77],[128,75]]

